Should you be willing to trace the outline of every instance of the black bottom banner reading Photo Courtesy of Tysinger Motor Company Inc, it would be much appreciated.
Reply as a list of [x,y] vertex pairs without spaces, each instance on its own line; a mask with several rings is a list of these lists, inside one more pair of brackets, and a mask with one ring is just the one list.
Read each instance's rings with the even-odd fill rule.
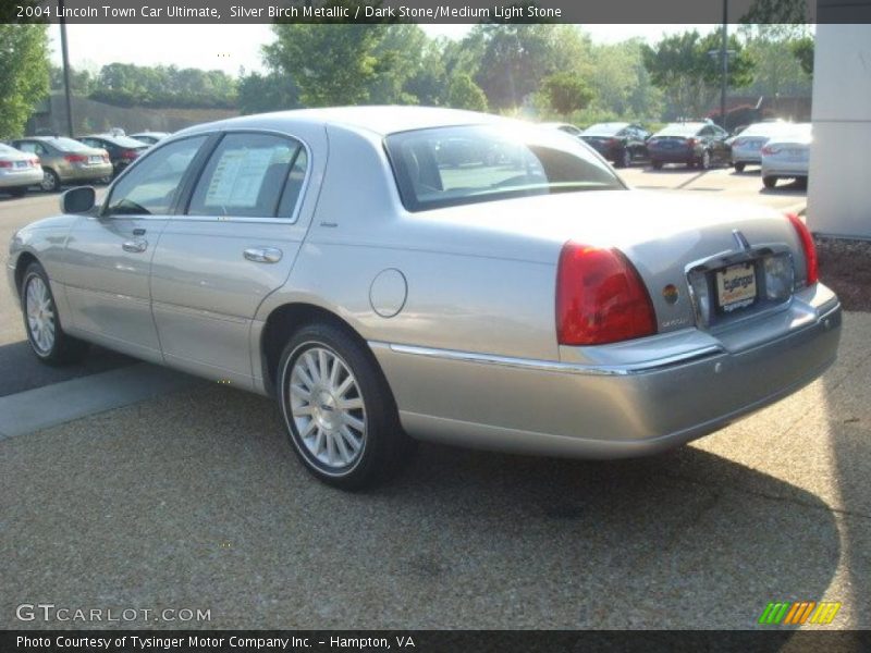
[[376,651],[871,651],[869,631],[7,630],[0,652],[344,653]]

